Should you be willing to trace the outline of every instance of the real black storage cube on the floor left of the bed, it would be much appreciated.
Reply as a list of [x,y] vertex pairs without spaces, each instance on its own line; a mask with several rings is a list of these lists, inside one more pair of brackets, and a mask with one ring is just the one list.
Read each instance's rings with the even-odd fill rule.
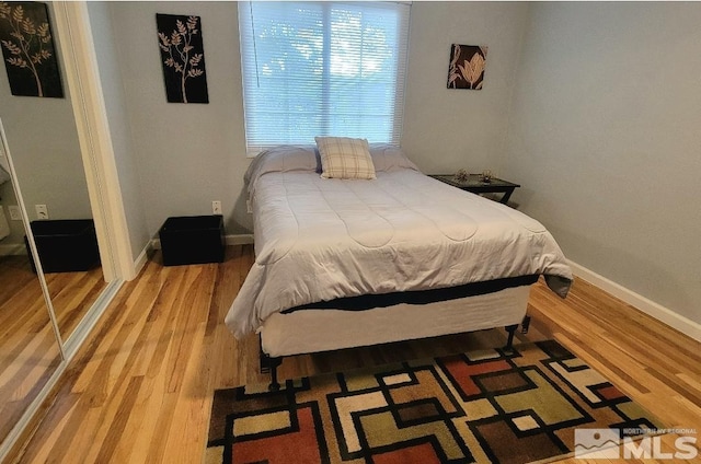
[[223,262],[225,233],[221,216],[168,218],[159,235],[164,266]]

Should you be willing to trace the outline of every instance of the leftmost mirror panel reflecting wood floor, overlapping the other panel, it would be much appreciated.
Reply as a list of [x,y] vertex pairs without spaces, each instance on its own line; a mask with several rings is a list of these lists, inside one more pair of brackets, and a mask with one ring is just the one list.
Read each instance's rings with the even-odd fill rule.
[[0,443],[61,361],[8,171],[0,146]]

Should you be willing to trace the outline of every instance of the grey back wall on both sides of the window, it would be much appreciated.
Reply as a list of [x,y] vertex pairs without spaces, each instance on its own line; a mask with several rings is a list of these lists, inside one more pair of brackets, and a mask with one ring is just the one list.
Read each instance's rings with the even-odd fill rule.
[[[113,2],[110,11],[149,232],[169,216],[210,213],[211,200],[221,200],[227,233],[250,233],[237,4]],[[209,104],[166,103],[156,13],[202,16]],[[526,13],[521,3],[412,5],[402,146],[422,169],[499,164]],[[446,89],[453,43],[490,46],[484,90]]]

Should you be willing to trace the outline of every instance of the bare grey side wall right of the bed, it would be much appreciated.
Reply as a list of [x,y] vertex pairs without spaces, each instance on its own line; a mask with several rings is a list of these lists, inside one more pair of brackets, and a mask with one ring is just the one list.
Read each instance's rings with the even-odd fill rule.
[[699,24],[699,3],[533,3],[505,165],[568,258],[697,323]]

